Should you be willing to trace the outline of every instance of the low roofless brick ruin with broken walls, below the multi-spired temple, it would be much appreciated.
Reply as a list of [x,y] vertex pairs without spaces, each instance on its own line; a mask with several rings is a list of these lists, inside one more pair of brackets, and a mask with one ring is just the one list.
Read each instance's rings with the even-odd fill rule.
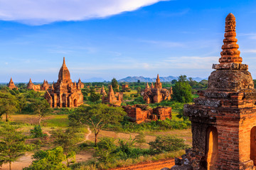
[[171,119],[171,107],[147,108],[145,105],[122,106],[132,122],[143,123],[145,120]]

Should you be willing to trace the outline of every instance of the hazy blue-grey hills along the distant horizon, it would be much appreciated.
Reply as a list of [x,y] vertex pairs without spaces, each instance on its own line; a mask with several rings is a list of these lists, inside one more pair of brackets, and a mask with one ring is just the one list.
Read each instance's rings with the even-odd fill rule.
[[[159,77],[160,80],[162,82],[166,82],[166,81],[172,81],[173,79],[178,79],[178,77],[173,77],[173,76],[169,76],[169,77]],[[201,81],[203,80],[202,78],[200,77],[196,77],[196,78],[193,78],[193,80],[195,81]],[[156,81],[156,78],[149,78],[149,77],[126,77],[124,79],[119,79],[118,82],[137,82],[137,81],[141,81],[141,82],[154,82]]]

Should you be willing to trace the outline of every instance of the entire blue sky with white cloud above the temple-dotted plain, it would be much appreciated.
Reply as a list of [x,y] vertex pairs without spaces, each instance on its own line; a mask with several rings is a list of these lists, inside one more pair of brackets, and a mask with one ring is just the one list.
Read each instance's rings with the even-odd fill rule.
[[0,82],[128,76],[207,78],[233,13],[256,79],[256,1],[0,0]]

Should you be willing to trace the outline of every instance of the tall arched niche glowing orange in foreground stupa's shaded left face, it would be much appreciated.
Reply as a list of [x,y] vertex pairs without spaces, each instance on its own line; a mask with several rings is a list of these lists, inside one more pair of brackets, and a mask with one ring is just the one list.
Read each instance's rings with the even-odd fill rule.
[[218,131],[215,127],[208,128],[206,132],[206,162],[207,169],[215,169],[218,159]]

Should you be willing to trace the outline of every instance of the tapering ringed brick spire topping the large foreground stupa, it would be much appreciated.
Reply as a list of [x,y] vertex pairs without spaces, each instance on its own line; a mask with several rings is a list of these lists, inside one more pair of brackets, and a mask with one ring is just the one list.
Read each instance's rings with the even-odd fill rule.
[[224,45],[221,47],[223,51],[220,52],[220,64],[233,62],[242,64],[242,57],[240,57],[240,51],[238,50],[239,45],[236,43],[238,39],[235,36],[235,16],[229,13],[225,18],[225,38],[223,40]]

